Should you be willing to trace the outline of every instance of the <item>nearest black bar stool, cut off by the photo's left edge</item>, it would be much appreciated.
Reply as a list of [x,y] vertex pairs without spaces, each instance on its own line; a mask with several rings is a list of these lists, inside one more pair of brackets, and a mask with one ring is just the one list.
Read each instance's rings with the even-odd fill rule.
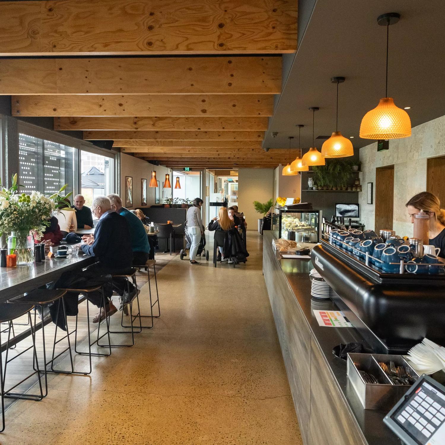
[[[24,381],[31,378],[33,375],[37,374],[37,376],[40,376],[40,369],[39,369],[39,363],[37,360],[37,351],[36,351],[36,337],[35,337],[35,330],[32,327],[32,320],[31,320],[31,310],[33,309],[32,304],[9,304],[9,303],[0,303],[0,322],[8,322],[9,329],[8,329],[8,341],[6,342],[6,357],[4,361],[4,368],[3,368],[3,359],[1,358],[0,354],[0,393],[1,393],[1,409],[2,409],[2,429],[0,430],[0,433],[4,431],[4,398],[10,398],[10,399],[25,399],[25,400],[34,400],[34,401],[40,401],[43,399],[43,390],[42,390],[42,383],[40,381],[40,378],[38,378],[39,387],[40,387],[40,394],[28,394],[28,393],[21,393],[21,392],[11,392],[14,388],[16,388],[18,385],[22,384]],[[17,318],[24,316],[25,314],[28,314],[28,320],[31,328],[31,338],[32,338],[32,346],[29,346],[28,348],[24,349],[22,352],[18,353],[15,357],[12,357],[12,359],[8,360],[8,352],[10,348],[10,340],[11,340],[11,330],[12,330],[12,321],[16,320]],[[2,344],[1,341],[1,332],[0,332],[0,345]],[[4,383],[6,379],[6,370],[8,367],[8,363],[12,362],[12,360],[15,360],[17,357],[21,356],[24,352],[29,351],[29,349],[32,349],[34,360],[36,360],[36,370],[26,376],[24,379],[20,380],[19,383],[15,384],[8,390],[4,389]]]

